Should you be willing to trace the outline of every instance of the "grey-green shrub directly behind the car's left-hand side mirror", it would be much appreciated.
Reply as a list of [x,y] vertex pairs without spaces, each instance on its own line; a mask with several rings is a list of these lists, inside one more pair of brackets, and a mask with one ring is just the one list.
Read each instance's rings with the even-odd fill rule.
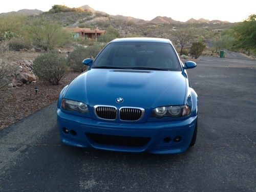
[[82,60],[85,58],[95,58],[104,45],[95,44],[94,46],[77,46],[73,52],[69,54],[68,65],[75,72],[83,72],[88,69],[88,66],[82,65]]

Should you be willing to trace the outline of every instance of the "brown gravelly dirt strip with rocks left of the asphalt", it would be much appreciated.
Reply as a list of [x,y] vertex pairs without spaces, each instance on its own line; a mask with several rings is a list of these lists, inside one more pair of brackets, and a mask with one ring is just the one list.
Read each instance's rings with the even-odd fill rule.
[[[61,79],[58,86],[47,82],[24,84],[22,87],[0,91],[0,129],[48,106],[56,101],[61,89],[71,82],[79,73],[70,72]],[[38,88],[37,94],[35,87]]]

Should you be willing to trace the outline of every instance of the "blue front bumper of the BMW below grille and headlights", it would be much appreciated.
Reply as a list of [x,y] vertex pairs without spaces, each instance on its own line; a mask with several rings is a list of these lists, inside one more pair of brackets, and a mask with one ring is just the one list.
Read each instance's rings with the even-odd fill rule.
[[[57,121],[60,139],[68,145],[119,152],[177,154],[188,148],[195,130],[197,116],[182,121],[118,123],[75,116],[57,109]],[[65,129],[68,132],[63,131]],[[105,136],[111,136],[114,139],[120,137],[121,140],[126,137],[129,139],[148,138],[148,141],[143,146],[116,145],[98,142],[98,139],[90,137],[91,134],[103,136],[103,138]],[[181,141],[174,141],[177,136],[182,137]]]

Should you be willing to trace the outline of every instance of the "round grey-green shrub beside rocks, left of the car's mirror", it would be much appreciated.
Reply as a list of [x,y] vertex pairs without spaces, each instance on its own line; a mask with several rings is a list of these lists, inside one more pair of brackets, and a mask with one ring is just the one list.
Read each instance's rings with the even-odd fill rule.
[[58,84],[68,73],[67,59],[59,53],[47,52],[35,58],[33,69],[39,79]]

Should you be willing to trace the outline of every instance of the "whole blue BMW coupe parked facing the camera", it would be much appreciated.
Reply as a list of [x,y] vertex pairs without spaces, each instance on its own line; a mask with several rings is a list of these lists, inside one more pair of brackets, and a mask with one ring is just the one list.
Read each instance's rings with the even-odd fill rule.
[[63,143],[119,152],[177,154],[197,137],[198,96],[172,42],[120,38],[89,70],[60,92],[57,122]]

